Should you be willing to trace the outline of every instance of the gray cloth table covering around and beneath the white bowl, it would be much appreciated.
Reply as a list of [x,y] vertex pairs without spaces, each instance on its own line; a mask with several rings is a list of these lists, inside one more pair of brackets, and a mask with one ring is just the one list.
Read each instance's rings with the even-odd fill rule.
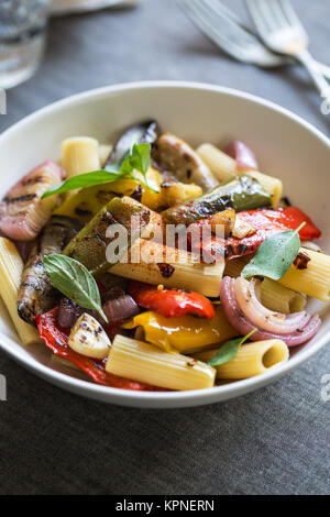
[[[246,16],[242,3],[228,3]],[[295,3],[315,55],[329,62],[329,3]],[[320,113],[304,70],[264,72],[230,61],[174,0],[52,21],[46,59],[32,80],[9,92],[0,128],[68,95],[140,79],[241,88],[329,131],[330,116]],[[3,354],[0,373],[8,382],[8,402],[0,403],[1,494],[330,493],[330,402],[320,394],[321,377],[330,373],[329,346],[267,388],[195,409],[85,400]]]

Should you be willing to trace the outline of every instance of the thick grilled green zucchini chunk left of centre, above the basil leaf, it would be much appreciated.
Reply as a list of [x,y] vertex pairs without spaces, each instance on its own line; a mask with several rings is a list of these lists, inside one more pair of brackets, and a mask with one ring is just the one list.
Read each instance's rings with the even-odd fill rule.
[[[143,205],[130,197],[114,198],[69,242],[63,253],[84,264],[91,274],[100,275],[111,265],[106,252],[114,238],[108,238],[107,230],[113,224],[122,224],[128,231],[129,245],[140,237],[140,231],[148,221],[150,211]],[[120,253],[125,253],[128,245],[121,246]]]

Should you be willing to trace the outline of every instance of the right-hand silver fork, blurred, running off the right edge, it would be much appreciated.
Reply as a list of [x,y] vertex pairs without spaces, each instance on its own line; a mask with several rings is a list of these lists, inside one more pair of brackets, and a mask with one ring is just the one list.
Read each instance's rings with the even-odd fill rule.
[[330,86],[308,52],[308,36],[289,0],[246,0],[262,41],[273,52],[305,66],[321,97],[330,101]]

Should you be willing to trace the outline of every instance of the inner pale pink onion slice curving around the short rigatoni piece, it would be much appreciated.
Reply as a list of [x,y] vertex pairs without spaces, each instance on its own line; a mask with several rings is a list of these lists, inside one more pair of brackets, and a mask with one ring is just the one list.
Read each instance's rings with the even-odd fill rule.
[[264,307],[260,301],[260,287],[261,282],[256,278],[249,282],[239,277],[234,283],[237,302],[255,327],[278,334],[289,334],[305,327],[310,319],[305,311],[286,316]]

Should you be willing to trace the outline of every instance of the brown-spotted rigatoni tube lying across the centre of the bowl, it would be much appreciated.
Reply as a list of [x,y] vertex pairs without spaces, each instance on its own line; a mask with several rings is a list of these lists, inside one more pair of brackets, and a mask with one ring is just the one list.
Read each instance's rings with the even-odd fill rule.
[[180,287],[218,297],[224,261],[209,265],[198,263],[197,258],[193,253],[139,239],[129,252],[128,262],[118,262],[110,273],[152,285],[163,284],[165,287]]

